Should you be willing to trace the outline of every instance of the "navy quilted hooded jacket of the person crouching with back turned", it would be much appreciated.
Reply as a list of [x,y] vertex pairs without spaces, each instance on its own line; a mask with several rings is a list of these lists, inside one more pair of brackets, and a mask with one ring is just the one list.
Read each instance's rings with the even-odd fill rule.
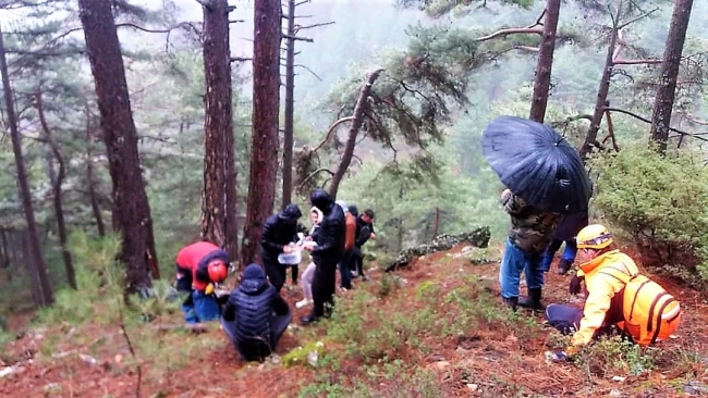
[[290,311],[288,303],[266,282],[266,272],[258,264],[249,264],[243,272],[241,285],[231,291],[223,309],[223,320],[235,321],[235,343],[270,338],[270,320],[273,313]]

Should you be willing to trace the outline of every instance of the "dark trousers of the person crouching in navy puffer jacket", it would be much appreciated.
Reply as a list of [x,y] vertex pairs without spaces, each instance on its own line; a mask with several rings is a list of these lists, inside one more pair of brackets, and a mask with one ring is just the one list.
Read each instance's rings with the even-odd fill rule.
[[229,336],[229,339],[233,343],[233,346],[239,353],[241,353],[247,361],[261,361],[276,350],[278,341],[280,341],[280,338],[288,329],[288,325],[290,325],[292,319],[293,313],[290,310],[288,310],[288,313],[285,314],[273,315],[270,320],[270,335],[267,336],[268,340],[260,336],[239,340],[235,337],[237,321],[224,321],[222,318],[221,325],[223,326],[223,332]]

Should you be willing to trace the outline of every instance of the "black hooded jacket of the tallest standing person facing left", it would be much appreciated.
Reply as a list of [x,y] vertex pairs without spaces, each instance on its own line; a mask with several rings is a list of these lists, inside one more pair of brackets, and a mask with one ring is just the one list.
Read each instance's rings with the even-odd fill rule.
[[324,189],[315,189],[310,195],[310,202],[322,211],[322,221],[315,237],[317,246],[310,253],[313,260],[317,264],[337,264],[344,253],[344,212]]

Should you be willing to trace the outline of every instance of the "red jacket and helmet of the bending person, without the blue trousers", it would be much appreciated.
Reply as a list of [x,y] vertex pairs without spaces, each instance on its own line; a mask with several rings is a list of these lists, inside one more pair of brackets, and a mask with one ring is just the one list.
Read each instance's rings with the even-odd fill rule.
[[207,265],[211,260],[221,260],[229,264],[229,253],[212,242],[197,241],[182,248],[174,262],[178,269],[192,275],[192,287],[195,290],[204,290],[209,283],[220,282],[209,278]]

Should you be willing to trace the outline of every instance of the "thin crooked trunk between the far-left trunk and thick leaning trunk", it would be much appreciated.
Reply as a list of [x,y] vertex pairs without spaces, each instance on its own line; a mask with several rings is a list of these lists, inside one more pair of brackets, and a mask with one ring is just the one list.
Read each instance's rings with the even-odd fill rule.
[[[59,148],[59,145],[54,140],[54,137],[51,134],[51,129],[49,129],[49,124],[47,123],[47,119],[45,117],[45,108],[41,99],[41,90],[37,91],[37,95],[35,96],[35,108],[37,109],[37,114],[39,115],[39,124],[41,125],[41,129],[45,132],[45,138],[47,139],[47,145],[51,149],[51,153],[53,154],[54,159],[57,160],[57,164],[59,165],[59,171],[57,172],[57,175],[53,178],[51,178],[50,176],[52,189],[53,189],[52,204],[54,207],[54,216],[57,217],[59,244],[61,245],[61,256],[64,260],[66,281],[69,282],[69,286],[71,286],[73,289],[76,289],[76,273],[74,272],[74,263],[72,261],[69,247],[66,246],[69,238],[66,235],[66,223],[64,222],[64,209],[63,209],[62,190],[61,190],[61,185],[64,184],[64,178],[66,178],[66,166],[64,164],[64,157],[61,153],[61,148]],[[52,161],[50,160],[48,166],[53,169],[53,164],[51,162]]]

